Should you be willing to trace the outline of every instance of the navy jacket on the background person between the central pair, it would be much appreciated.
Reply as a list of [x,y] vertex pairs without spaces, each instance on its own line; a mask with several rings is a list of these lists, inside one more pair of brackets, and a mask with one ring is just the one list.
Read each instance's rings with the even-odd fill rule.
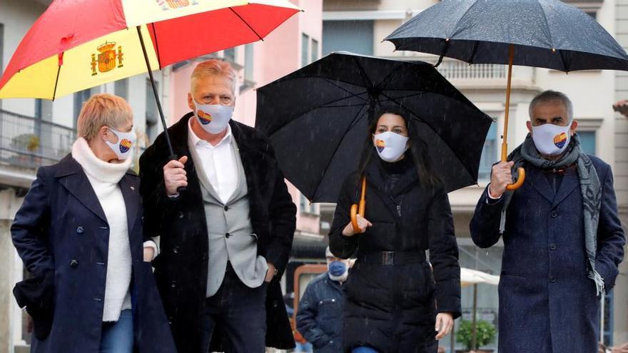
[[328,272],[316,277],[303,293],[297,311],[297,331],[314,346],[314,353],[343,350],[343,285]]

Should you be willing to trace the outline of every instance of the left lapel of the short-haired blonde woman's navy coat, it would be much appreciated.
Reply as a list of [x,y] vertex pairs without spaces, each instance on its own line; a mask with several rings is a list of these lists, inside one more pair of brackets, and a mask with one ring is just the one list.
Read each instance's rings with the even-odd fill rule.
[[100,202],[98,202],[98,197],[94,193],[81,165],[71,155],[67,155],[61,160],[59,167],[59,171],[55,175],[56,178],[59,178],[59,183],[88,210],[91,210],[98,218],[106,222],[107,218],[103,208]]

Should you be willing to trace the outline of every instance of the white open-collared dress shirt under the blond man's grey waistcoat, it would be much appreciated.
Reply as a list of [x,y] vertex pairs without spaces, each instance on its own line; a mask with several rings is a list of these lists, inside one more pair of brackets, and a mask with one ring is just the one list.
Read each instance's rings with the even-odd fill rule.
[[[229,199],[238,188],[238,167],[236,165],[236,155],[231,147],[231,126],[227,126],[225,137],[217,145],[212,145],[206,140],[198,138],[192,130],[192,119],[188,121],[189,143],[194,146],[198,161],[201,163],[196,168],[197,173],[205,173],[207,180],[223,203],[228,203]],[[199,168],[200,167],[200,168]]]

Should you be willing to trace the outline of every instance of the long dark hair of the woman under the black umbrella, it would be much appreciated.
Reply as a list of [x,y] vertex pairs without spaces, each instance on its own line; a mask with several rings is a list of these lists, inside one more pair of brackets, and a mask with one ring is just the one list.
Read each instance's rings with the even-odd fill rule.
[[375,134],[375,130],[378,127],[378,121],[386,113],[400,116],[405,122],[405,128],[409,138],[408,145],[410,145],[410,148],[408,148],[405,152],[405,158],[412,158],[412,162],[414,163],[419,176],[419,183],[425,187],[435,187],[437,185],[441,185],[442,182],[433,172],[432,163],[430,163],[430,158],[427,157],[427,144],[419,138],[417,133],[413,131],[414,127],[412,126],[410,119],[407,118],[407,113],[405,113],[401,108],[396,107],[380,108],[375,111],[375,114],[373,115],[375,118],[373,118],[373,121],[371,121],[368,126],[362,155],[360,156],[360,162],[358,163],[357,185],[361,185],[364,172],[368,163],[370,163],[370,160],[373,158],[379,158],[375,153],[375,147],[373,147],[373,134]]

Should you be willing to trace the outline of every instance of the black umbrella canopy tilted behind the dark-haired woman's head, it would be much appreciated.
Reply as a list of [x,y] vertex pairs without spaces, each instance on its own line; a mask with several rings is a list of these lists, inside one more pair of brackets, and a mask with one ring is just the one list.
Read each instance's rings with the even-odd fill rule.
[[378,107],[412,118],[447,191],[473,185],[492,120],[429,63],[332,53],[258,89],[255,127],[285,177],[309,200],[332,202],[358,165]]

